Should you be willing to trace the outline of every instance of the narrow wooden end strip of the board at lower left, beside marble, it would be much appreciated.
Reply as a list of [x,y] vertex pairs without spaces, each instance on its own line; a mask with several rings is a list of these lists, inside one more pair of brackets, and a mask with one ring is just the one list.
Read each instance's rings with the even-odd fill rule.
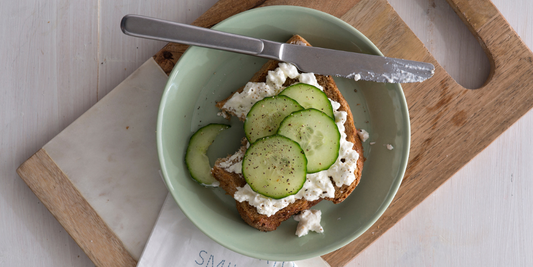
[[122,241],[44,148],[17,173],[96,266],[136,266]]

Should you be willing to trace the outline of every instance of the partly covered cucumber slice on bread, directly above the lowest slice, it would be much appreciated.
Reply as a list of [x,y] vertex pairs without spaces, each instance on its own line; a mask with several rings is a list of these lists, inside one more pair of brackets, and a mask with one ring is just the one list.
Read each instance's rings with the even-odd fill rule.
[[255,103],[244,121],[244,132],[250,143],[274,135],[279,124],[285,117],[303,107],[295,100],[286,96],[264,98]]

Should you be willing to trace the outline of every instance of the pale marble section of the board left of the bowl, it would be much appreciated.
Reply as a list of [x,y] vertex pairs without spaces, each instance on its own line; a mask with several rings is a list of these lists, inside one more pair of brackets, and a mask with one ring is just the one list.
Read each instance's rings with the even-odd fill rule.
[[135,259],[167,194],[155,136],[167,78],[150,58],[44,146]]

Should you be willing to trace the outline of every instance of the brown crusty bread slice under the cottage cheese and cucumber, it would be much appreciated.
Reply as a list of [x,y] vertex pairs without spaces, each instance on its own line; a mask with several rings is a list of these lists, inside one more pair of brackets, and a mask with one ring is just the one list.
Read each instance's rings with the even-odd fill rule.
[[[310,44],[303,39],[301,36],[295,35],[291,39],[289,39],[288,43],[291,44],[300,44],[300,45],[308,45]],[[279,61],[270,60],[265,65],[262,66],[262,68],[250,79],[250,82],[265,82],[266,76],[268,74],[268,71],[274,70],[278,67]],[[359,184],[359,181],[361,179],[361,172],[363,170],[363,146],[361,144],[361,140],[359,139],[359,136],[357,134],[357,129],[354,126],[353,116],[352,112],[350,111],[350,107],[348,106],[348,103],[340,93],[339,89],[337,88],[333,78],[330,76],[324,76],[324,75],[315,75],[318,84],[321,85],[324,88],[324,92],[330,98],[331,100],[334,100],[338,103],[340,103],[340,111],[345,111],[347,113],[347,119],[344,124],[345,127],[345,133],[346,133],[346,140],[353,143],[353,149],[359,154],[359,159],[357,161],[357,169],[355,170],[355,180],[350,185],[343,185],[341,187],[337,187],[335,183],[333,185],[335,186],[335,196],[333,198],[326,198],[327,200],[332,201],[333,203],[337,204],[342,201],[344,201],[355,189],[357,184]],[[284,86],[288,86],[290,84],[293,84],[297,82],[293,79],[287,79]],[[222,100],[216,104],[218,108],[221,109],[222,114],[229,118],[229,116],[237,116],[234,112],[224,109],[224,104],[237,92],[242,92],[244,86],[241,87],[239,90],[231,94],[228,98],[225,100]],[[239,117],[239,116],[237,116]],[[242,116],[239,117],[240,120],[244,121],[245,117]],[[246,151],[247,148],[247,140],[246,138],[243,139],[242,147],[240,148],[240,151],[236,152],[234,155],[230,155],[226,158],[218,159],[215,162],[215,166],[212,169],[212,173],[214,177],[220,182],[220,187],[224,189],[229,195],[233,196],[235,192],[237,191],[237,188],[243,187],[246,184],[246,181],[242,174],[230,172],[225,168],[225,166],[230,166],[233,163],[239,161],[242,159],[242,156],[238,155],[244,155],[244,151]],[[331,178],[330,178],[331,179]],[[315,201],[307,201],[305,199],[299,199],[296,200],[294,203],[288,205],[287,207],[281,209],[276,214],[272,216],[266,216],[259,214],[257,212],[257,209],[248,202],[243,201],[239,202],[236,201],[237,210],[239,211],[239,214],[241,215],[242,219],[252,227],[255,227],[261,231],[273,231],[275,230],[283,221],[289,219],[292,215],[298,214],[303,210],[309,209],[312,206],[318,204],[322,199],[318,199]]]

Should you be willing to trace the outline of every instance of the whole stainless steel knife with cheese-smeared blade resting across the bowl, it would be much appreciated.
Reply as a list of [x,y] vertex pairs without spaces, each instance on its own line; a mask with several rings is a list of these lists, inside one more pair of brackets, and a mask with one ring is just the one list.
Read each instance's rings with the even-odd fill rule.
[[302,72],[385,83],[422,82],[433,64],[320,47],[278,43],[139,15],[120,23],[127,35],[202,46],[294,64]]

